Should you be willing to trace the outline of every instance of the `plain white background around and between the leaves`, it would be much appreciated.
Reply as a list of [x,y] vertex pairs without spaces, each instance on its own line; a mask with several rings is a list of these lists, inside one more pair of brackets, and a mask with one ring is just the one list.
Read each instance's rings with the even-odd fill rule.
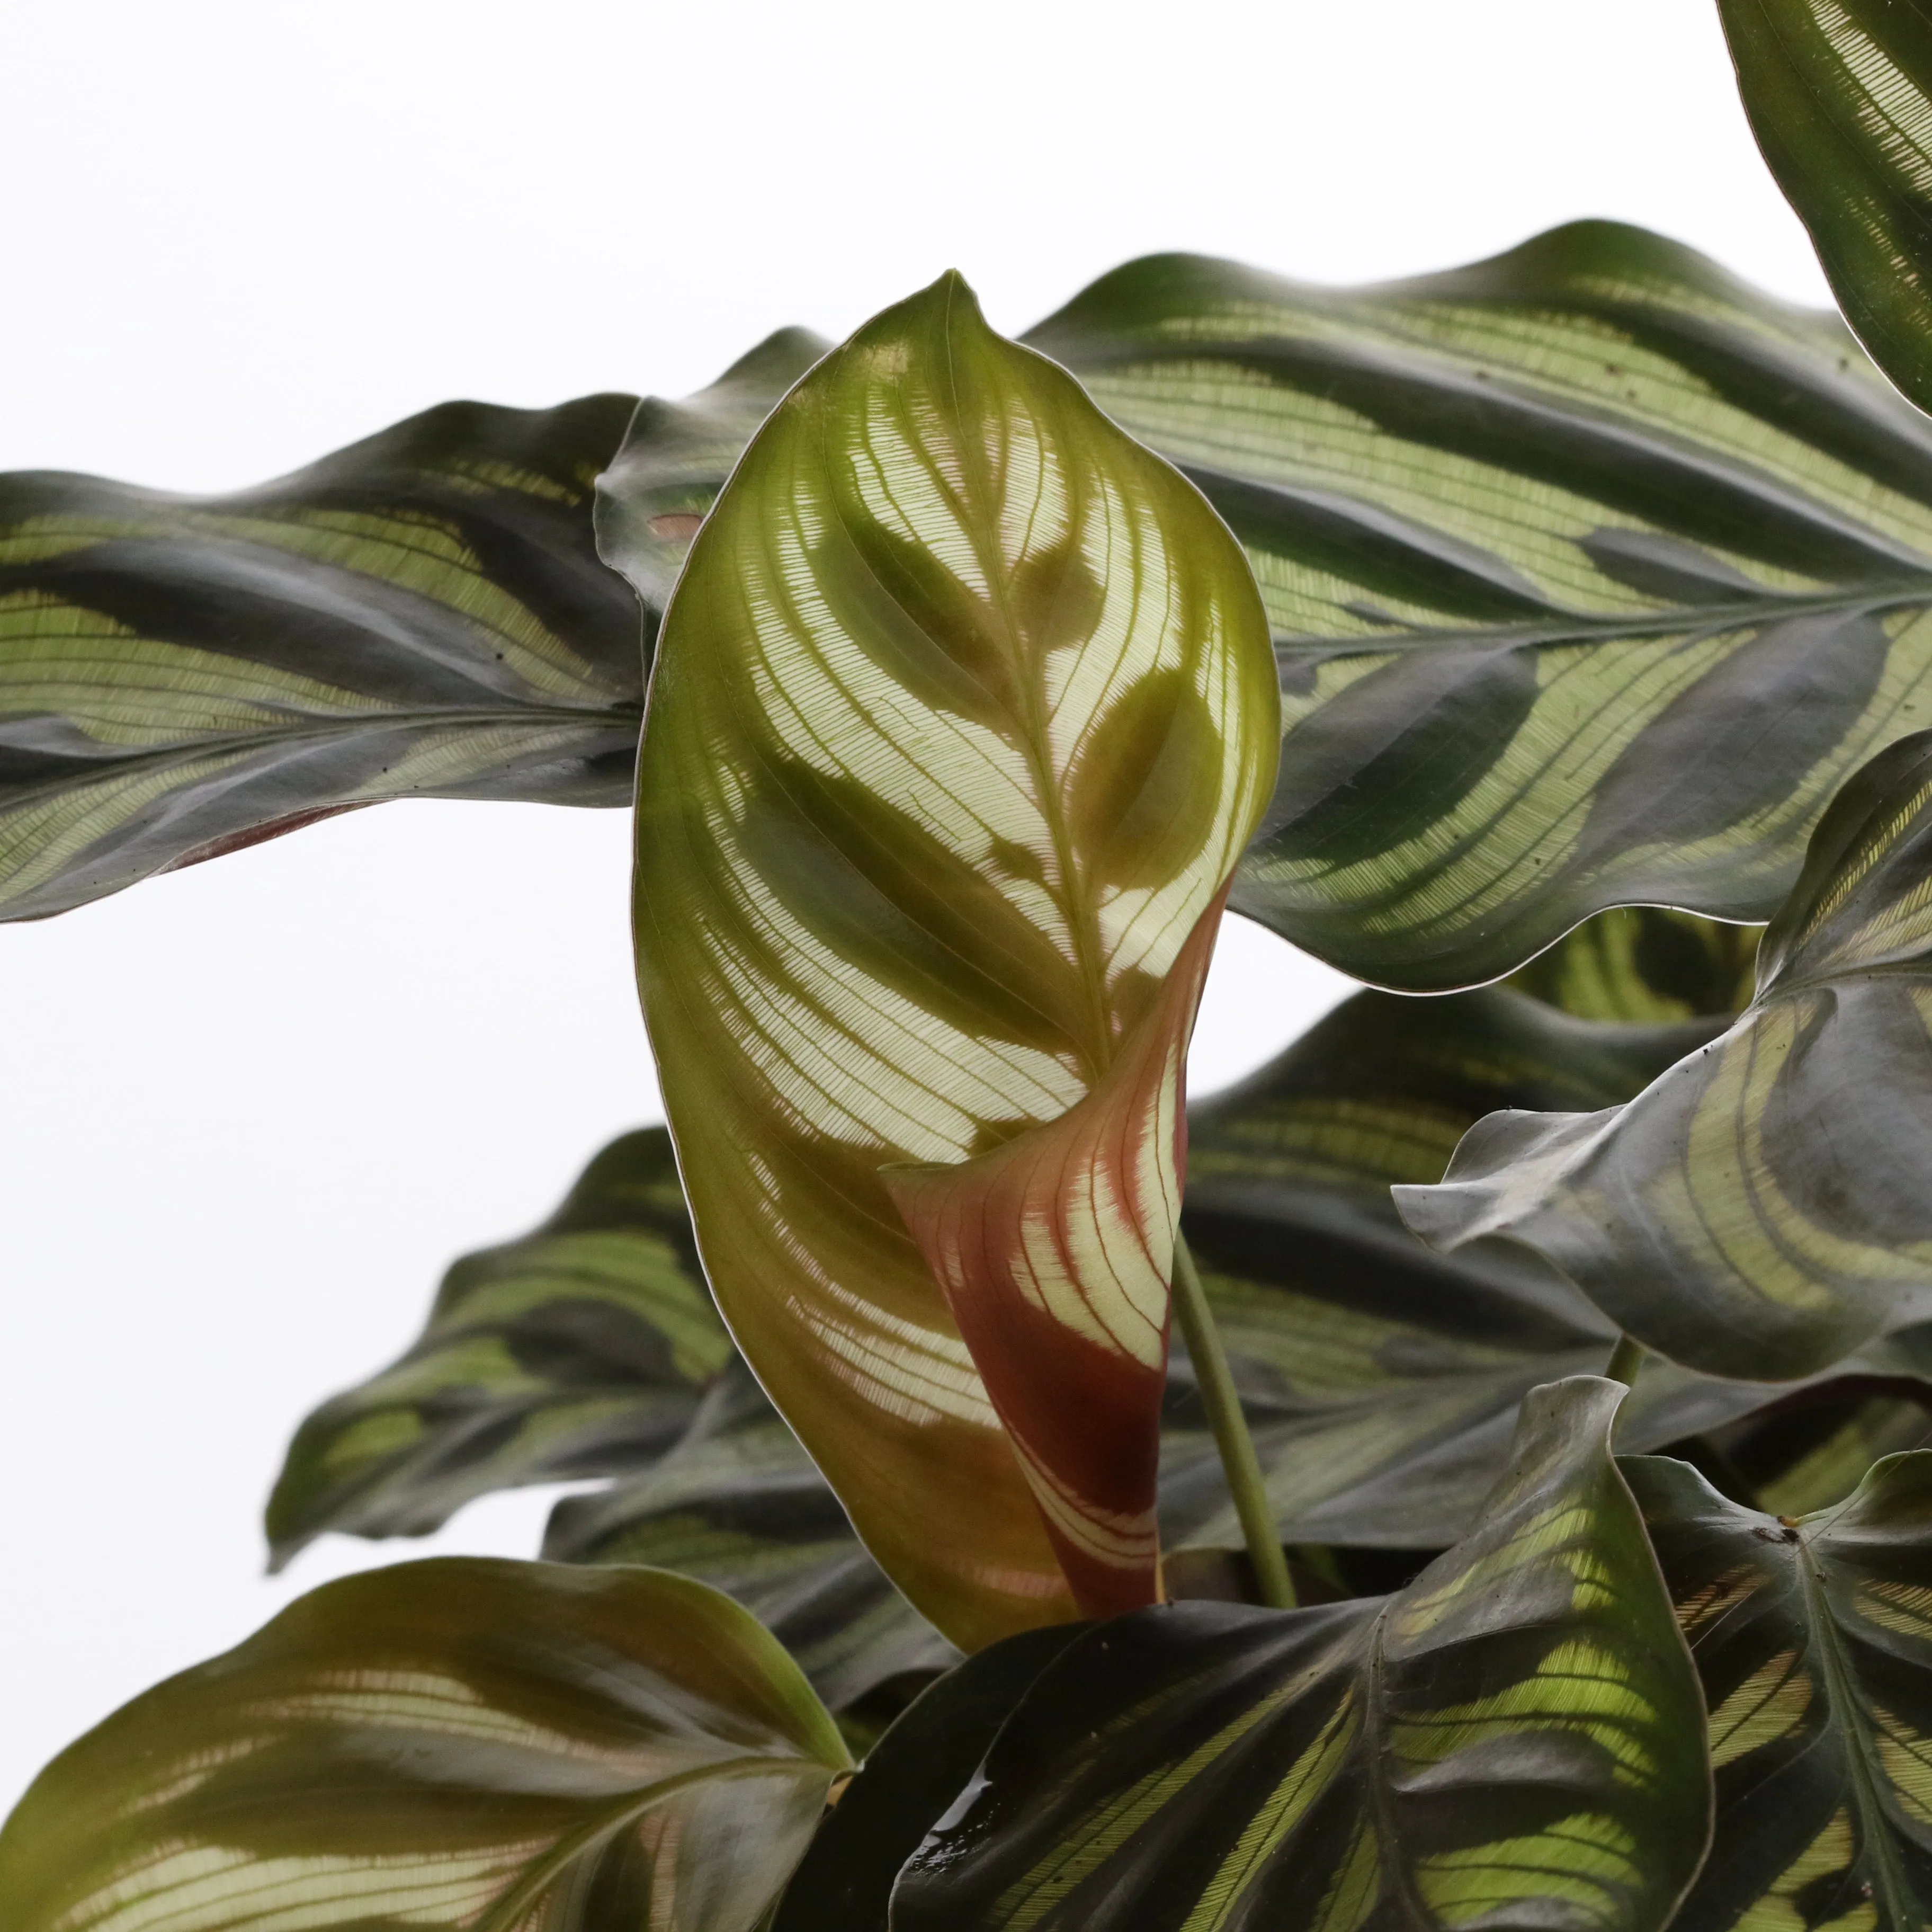
[[[960,267],[1312,280],[1580,214],[1824,284],[1710,0],[6,0],[0,468],[220,489],[448,396],[682,394]],[[296,1420],[657,1117],[620,813],[392,806],[0,927],[0,1804],[294,1590]],[[1196,1084],[1341,983],[1252,927]],[[547,1497],[435,1548],[527,1553]]]

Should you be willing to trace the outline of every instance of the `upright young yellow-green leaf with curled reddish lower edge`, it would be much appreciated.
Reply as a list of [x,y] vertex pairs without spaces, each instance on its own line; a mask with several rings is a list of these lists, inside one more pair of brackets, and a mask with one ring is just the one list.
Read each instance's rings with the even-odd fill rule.
[[1153,1590],[1180,1066],[1277,717],[1238,547],[956,276],[790,392],[665,618],[638,958],[705,1267],[968,1648]]

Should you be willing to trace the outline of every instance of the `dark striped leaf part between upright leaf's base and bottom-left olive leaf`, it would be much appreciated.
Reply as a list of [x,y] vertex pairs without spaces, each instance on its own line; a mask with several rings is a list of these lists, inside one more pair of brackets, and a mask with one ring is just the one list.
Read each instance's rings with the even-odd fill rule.
[[647,1563],[744,1604],[833,1710],[958,1652],[893,1588],[825,1478],[744,1362],[705,1397],[684,1439],[634,1482],[566,1497],[543,1553]]

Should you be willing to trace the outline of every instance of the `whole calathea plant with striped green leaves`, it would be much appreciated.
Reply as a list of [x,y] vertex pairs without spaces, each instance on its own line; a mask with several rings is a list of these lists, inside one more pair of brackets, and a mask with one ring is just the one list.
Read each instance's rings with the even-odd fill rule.
[[[81,1739],[10,1932],[1926,1922],[1932,41],[1723,15],[1884,375],[1590,222],[0,483],[10,916],[634,800],[670,1115],[267,1528],[605,1486]],[[1227,906],[1368,989],[1188,1107]]]

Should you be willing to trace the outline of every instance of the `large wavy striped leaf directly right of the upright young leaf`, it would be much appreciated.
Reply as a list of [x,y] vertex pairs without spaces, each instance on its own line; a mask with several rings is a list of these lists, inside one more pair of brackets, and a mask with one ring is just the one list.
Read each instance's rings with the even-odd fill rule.
[[1281,661],[1235,906],[1435,991],[1584,916],[1766,920],[1932,723],[1932,425],[1636,228],[1308,288],[1157,255],[1026,336],[1209,497]]

